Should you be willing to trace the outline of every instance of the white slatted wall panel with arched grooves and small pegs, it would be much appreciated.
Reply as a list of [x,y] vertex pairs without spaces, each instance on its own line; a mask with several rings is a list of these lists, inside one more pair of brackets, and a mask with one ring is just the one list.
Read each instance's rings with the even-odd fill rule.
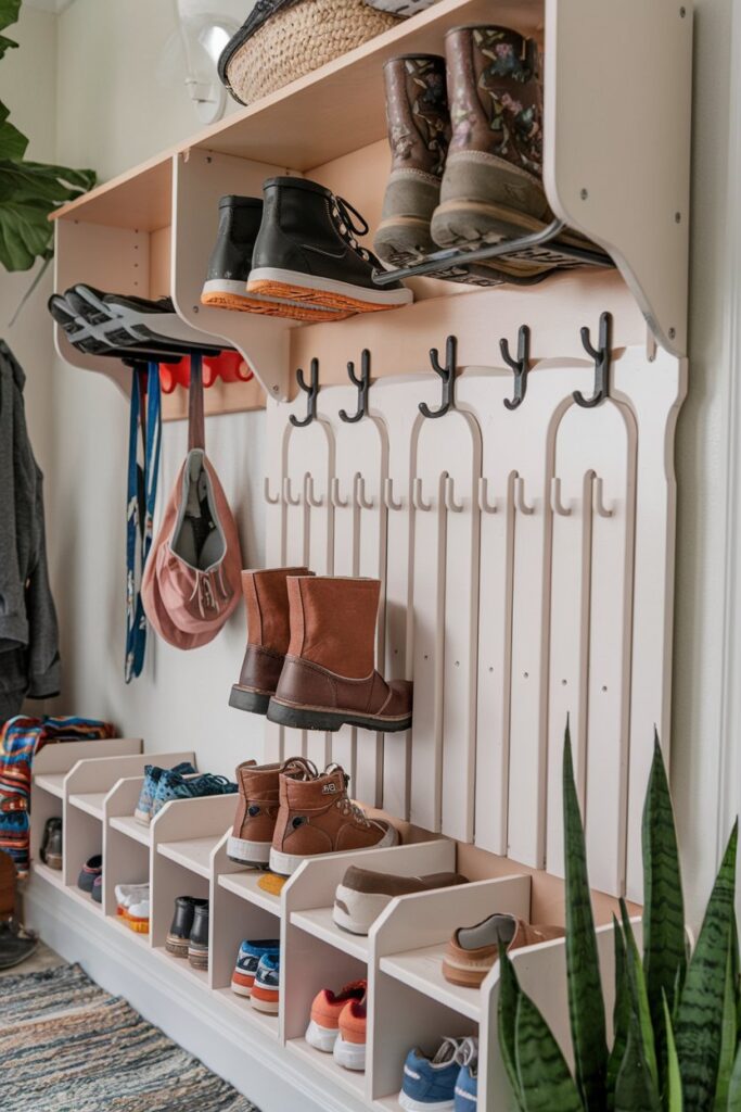
[[[438,420],[433,376],[269,405],[269,563],[382,580],[379,661],[414,681],[409,735],[268,731],[268,752],[334,759],[391,814],[561,874],[561,759],[571,721],[592,885],[634,895],[654,722],[668,736],[673,426],[682,366],[615,353],[588,410],[587,363],[459,374]],[[309,478],[307,478],[307,476]],[[288,480],[288,481],[286,481]],[[293,505],[292,503],[297,503]],[[410,616],[413,615],[413,620]],[[638,620],[635,616],[638,615]]]

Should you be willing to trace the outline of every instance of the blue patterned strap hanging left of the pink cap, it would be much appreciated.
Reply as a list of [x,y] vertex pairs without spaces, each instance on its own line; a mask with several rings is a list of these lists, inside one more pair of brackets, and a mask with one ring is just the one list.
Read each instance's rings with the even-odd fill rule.
[[160,368],[136,364],[131,375],[127,489],[127,638],[124,678],[141,675],[147,648],[147,615],[141,578],[152,546],[157,480],[162,444]]

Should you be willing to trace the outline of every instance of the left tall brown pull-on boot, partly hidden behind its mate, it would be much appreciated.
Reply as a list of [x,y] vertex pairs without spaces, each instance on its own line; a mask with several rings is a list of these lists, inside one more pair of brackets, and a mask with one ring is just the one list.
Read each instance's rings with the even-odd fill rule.
[[229,697],[229,706],[238,711],[266,714],[278,686],[291,636],[286,590],[289,575],[311,575],[311,572],[306,567],[242,572],[247,652],[239,683]]

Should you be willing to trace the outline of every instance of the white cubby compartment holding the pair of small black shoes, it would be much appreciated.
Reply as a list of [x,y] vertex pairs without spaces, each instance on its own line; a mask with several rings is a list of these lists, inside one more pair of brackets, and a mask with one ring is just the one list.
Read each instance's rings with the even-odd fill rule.
[[236,810],[236,794],[172,800],[151,824],[150,945],[171,969],[179,969],[203,987],[209,986],[209,972],[169,954],[167,935],[178,896],[211,898],[212,857],[233,824]]

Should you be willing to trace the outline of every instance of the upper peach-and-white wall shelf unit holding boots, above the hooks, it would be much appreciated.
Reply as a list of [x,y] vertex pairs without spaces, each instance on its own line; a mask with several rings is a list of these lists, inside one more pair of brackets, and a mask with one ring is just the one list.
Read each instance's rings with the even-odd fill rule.
[[[372,229],[389,165],[383,62],[410,50],[440,52],[450,28],[490,19],[488,0],[441,0],[60,209],[57,288],[87,280],[143,296],[172,294],[182,318],[233,344],[276,399],[290,396],[290,374],[307,348],[323,357],[330,377],[322,380],[332,380],[343,366],[342,359],[337,366],[338,340],[347,358],[356,340],[368,335],[380,356],[374,375],[397,374],[400,339],[405,339],[401,351],[412,339],[418,347],[421,339],[424,350],[430,322],[437,320],[464,338],[462,363],[471,365],[477,342],[463,327],[469,298],[477,298],[479,320],[513,296],[527,297],[530,311],[548,305],[562,309],[574,290],[588,299],[594,275],[547,281],[524,295],[507,289],[462,294],[435,279],[414,280],[415,305],[377,315],[383,321],[344,321],[339,331],[337,325],[292,327],[199,302],[222,193],[259,193],[262,181],[277,172],[307,175],[351,197]],[[610,252],[620,277],[608,275],[602,288],[627,309],[634,299],[658,340],[681,357],[687,350],[691,8],[673,0],[648,6],[642,0],[505,0],[497,19],[544,43],[544,183],[555,216]],[[663,44],[660,63],[652,46],[658,41]],[[625,82],[628,56],[644,81]],[[102,371],[127,389],[123,368],[81,356],[59,331],[58,347],[68,361]],[[227,388],[224,398],[237,398],[241,389]],[[253,404],[254,396],[246,403]],[[227,408],[240,407],[227,401]]]

